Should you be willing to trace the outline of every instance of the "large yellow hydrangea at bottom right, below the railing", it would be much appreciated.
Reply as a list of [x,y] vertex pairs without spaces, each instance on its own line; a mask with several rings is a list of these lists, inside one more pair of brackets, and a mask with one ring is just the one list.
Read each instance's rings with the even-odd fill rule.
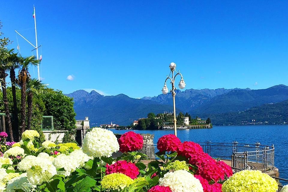
[[222,185],[222,192],[276,192],[278,184],[258,170],[243,170],[233,174]]

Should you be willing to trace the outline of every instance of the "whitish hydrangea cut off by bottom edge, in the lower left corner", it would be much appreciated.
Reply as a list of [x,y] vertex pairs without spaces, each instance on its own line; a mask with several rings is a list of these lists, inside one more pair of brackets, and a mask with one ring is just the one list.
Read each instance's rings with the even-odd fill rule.
[[18,177],[15,177],[8,181],[7,183],[7,192],[15,192],[16,189],[22,189],[23,191],[30,192],[34,191],[34,188],[36,185],[32,185],[28,180],[27,180],[27,173],[22,173]]

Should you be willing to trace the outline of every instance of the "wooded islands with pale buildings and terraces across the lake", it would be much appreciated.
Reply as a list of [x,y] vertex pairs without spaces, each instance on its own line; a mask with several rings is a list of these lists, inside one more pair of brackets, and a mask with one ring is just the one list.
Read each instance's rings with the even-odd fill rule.
[[[173,124],[174,114],[172,112],[165,111],[164,113],[148,113],[147,118],[140,118],[131,123],[128,126],[120,126],[117,124],[102,124],[101,128],[116,129],[116,130],[157,130],[157,129],[174,129]],[[176,115],[177,129],[203,129],[212,128],[210,118],[203,120],[199,117],[192,119],[190,114],[185,115],[180,112]]]

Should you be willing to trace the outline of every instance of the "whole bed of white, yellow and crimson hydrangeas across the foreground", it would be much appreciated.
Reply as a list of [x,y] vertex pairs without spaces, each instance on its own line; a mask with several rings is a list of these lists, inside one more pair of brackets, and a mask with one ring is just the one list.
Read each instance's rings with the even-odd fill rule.
[[[231,167],[174,135],[159,138],[156,156],[147,166],[136,152],[143,137],[129,131],[118,140],[112,131],[93,128],[80,149],[74,143],[35,141],[27,130],[19,143],[0,133],[0,192],[276,192],[277,183],[260,171],[233,174]],[[116,151],[122,156],[113,159]],[[283,192],[288,187],[283,187]]]

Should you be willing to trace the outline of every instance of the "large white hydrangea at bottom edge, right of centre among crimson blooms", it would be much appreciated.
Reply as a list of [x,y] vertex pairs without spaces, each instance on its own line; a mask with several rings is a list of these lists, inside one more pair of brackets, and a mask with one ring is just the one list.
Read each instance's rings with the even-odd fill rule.
[[166,173],[159,179],[159,185],[168,186],[173,192],[203,192],[200,181],[186,170]]

